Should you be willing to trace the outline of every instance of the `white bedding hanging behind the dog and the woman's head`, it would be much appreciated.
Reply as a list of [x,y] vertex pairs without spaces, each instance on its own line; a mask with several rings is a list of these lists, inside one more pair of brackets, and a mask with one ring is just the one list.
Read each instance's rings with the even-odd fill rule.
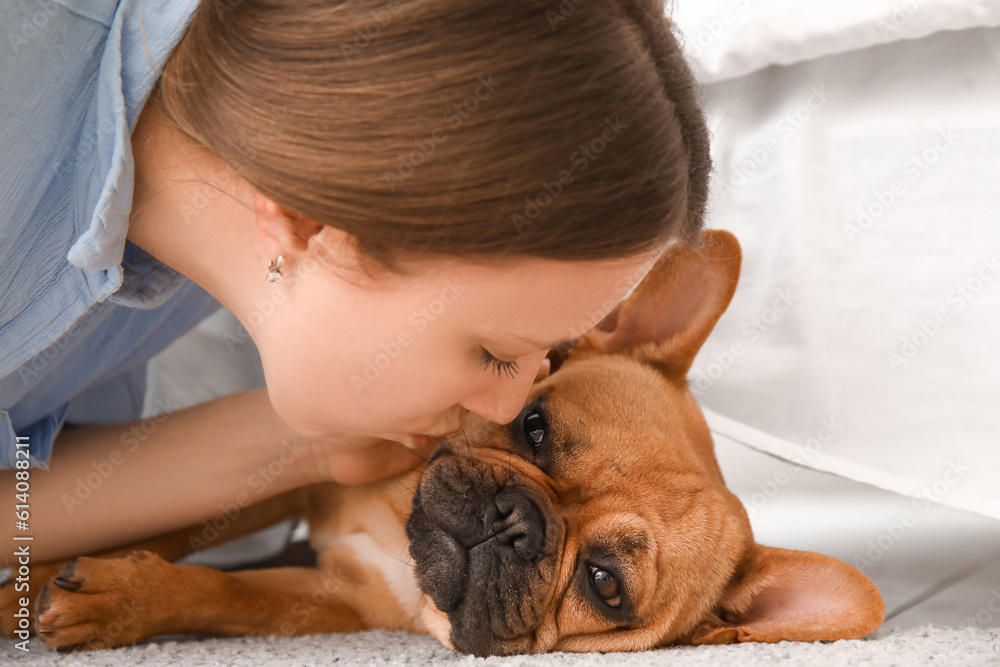
[[689,378],[710,426],[1000,518],[1000,2],[675,15],[706,83],[708,225],[744,249]]

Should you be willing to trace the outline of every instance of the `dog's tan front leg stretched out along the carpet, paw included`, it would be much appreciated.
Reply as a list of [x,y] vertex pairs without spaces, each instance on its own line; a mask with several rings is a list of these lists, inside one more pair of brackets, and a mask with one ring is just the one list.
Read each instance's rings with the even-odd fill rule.
[[38,636],[61,651],[126,646],[157,635],[307,635],[365,629],[337,595],[336,572],[221,572],[148,551],[79,558],[38,597]]

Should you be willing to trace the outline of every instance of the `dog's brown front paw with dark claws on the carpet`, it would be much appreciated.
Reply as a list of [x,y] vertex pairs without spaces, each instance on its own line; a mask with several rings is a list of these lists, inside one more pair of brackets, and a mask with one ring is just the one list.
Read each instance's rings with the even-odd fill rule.
[[77,558],[49,582],[35,602],[36,633],[60,652],[129,646],[152,636],[142,595],[169,566],[149,551],[126,558]]

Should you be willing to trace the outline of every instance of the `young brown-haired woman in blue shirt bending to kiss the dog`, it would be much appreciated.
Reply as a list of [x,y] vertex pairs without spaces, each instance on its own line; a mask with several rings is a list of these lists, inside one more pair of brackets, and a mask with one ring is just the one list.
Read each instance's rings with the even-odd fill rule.
[[[37,562],[510,421],[702,226],[707,131],[655,0],[17,11],[0,463],[30,461],[30,519],[0,539]],[[137,421],[146,361],[220,304],[266,391]]]

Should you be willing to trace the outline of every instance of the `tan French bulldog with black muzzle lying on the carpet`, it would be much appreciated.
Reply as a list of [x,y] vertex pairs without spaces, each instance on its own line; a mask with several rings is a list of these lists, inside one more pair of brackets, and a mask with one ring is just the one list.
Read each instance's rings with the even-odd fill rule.
[[[706,232],[699,252],[675,244],[612,316],[551,357],[510,424],[470,415],[422,472],[298,489],[247,508],[226,536],[303,515],[317,567],[171,564],[201,526],[178,531],[62,567],[36,603],[39,637],[85,650],[386,628],[485,656],[872,632],[884,607],[864,575],[754,543],[688,391],[739,268],[726,232]],[[12,588],[0,600],[8,634]]]

